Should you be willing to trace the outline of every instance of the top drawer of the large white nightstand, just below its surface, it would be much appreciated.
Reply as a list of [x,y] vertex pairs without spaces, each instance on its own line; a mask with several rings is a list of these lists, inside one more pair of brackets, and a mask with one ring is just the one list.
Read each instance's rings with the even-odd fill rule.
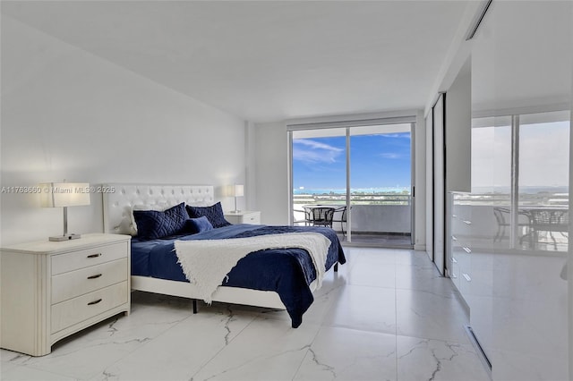
[[99,246],[93,249],[55,255],[52,257],[52,275],[125,258],[126,253],[127,244],[116,243],[114,245]]

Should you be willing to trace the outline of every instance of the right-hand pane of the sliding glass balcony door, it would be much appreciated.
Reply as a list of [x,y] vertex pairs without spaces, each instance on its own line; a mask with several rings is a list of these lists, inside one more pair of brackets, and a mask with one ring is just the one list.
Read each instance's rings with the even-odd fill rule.
[[382,245],[411,245],[411,124],[350,129],[352,232]]

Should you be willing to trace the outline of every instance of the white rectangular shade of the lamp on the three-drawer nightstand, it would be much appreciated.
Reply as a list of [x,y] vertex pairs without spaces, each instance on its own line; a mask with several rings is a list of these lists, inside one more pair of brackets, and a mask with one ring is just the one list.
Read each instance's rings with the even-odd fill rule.
[[41,189],[42,207],[80,207],[90,205],[89,182],[44,182]]

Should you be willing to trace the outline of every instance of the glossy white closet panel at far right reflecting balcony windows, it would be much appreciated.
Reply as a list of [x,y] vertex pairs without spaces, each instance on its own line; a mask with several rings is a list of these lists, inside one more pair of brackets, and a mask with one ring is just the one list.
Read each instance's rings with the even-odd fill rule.
[[571,379],[570,112],[558,112],[571,106],[571,15],[571,2],[493,1],[471,42],[479,119],[458,283],[494,381]]

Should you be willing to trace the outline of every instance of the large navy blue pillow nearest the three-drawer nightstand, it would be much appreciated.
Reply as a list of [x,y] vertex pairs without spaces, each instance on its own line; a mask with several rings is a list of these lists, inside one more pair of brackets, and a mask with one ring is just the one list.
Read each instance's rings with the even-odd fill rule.
[[182,202],[175,207],[169,207],[163,212],[157,210],[133,210],[137,237],[142,240],[155,240],[180,233],[189,218]]

